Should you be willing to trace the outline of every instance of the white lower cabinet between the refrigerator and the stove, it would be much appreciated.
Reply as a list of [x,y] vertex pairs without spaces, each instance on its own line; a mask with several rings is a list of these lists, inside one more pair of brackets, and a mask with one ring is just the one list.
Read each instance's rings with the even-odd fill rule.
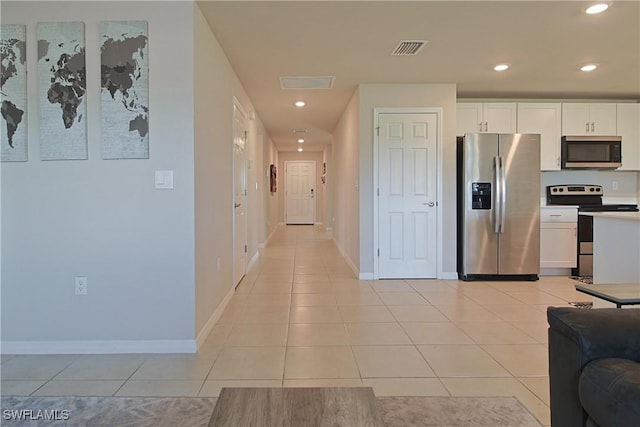
[[575,268],[578,258],[577,208],[541,208],[540,268]]

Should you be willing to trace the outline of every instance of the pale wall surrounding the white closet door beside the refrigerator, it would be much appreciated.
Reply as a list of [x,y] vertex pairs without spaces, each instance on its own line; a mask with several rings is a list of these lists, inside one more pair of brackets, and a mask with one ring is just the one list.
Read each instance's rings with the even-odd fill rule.
[[384,107],[442,108],[443,272],[456,271],[456,86],[454,84],[360,85],[360,274],[373,275],[373,110]]

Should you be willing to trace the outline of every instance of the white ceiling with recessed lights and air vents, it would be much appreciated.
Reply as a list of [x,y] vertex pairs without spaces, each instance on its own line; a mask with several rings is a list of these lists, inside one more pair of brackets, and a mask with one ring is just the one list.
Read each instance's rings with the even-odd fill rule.
[[[640,100],[640,1],[199,1],[280,150],[331,133],[358,84],[455,83],[458,98]],[[400,40],[428,40],[395,57]],[[493,66],[511,69],[497,73]],[[600,68],[583,73],[595,62]],[[335,76],[283,90],[281,76]],[[294,101],[307,102],[303,109]]]

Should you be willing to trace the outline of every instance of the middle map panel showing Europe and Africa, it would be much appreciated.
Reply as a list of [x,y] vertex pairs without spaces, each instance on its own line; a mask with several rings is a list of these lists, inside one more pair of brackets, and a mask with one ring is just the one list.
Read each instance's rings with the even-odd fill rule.
[[37,35],[40,158],[87,159],[84,23],[41,22]]

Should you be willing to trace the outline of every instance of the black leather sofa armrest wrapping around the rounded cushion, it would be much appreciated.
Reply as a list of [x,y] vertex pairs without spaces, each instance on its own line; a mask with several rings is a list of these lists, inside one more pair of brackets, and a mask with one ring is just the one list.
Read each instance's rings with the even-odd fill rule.
[[583,367],[604,357],[640,359],[640,310],[549,307],[549,393],[553,426],[584,426]]

